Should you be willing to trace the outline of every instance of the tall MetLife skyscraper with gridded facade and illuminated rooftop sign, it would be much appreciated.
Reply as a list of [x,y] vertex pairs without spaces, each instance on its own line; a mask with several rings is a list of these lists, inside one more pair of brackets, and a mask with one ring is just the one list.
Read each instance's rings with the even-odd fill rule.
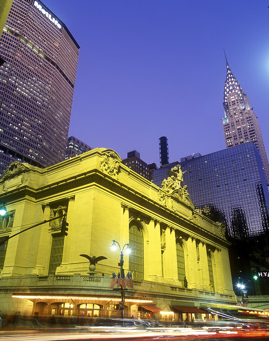
[[42,2],[14,0],[0,52],[0,175],[65,159],[79,45]]

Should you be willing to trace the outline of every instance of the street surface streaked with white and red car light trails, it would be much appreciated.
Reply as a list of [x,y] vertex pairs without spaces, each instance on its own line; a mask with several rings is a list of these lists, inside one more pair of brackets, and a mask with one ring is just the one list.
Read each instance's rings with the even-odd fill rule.
[[203,341],[268,341],[269,330],[205,330],[191,328],[167,328],[165,330],[131,330],[130,328],[102,328],[102,331],[88,331],[85,328],[78,330],[57,329],[51,331],[29,331],[1,329],[0,340],[3,341],[177,341],[177,340],[203,340]]

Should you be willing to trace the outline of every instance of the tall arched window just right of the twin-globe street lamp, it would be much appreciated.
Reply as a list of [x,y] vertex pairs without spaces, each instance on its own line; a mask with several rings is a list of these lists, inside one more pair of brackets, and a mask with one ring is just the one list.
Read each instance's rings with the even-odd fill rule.
[[142,228],[136,222],[131,222],[129,226],[129,244],[129,269],[134,280],[141,281],[144,279],[144,241]]

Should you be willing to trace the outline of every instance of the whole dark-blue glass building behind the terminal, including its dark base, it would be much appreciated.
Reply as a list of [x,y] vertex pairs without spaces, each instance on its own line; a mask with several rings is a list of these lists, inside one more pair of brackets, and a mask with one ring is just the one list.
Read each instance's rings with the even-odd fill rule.
[[181,158],[154,169],[153,182],[161,187],[167,170],[176,164],[187,171],[181,186],[188,186],[194,207],[227,226],[234,290],[240,295],[237,283],[241,281],[249,295],[268,295],[266,280],[253,281],[254,273],[269,268],[269,193],[254,143]]

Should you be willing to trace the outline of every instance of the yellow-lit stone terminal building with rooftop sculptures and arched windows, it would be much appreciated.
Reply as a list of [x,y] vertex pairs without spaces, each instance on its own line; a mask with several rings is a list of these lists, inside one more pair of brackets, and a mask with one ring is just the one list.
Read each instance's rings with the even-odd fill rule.
[[[159,188],[105,148],[44,169],[12,163],[0,179],[7,210],[0,218],[1,312],[118,317],[113,240],[131,248],[123,252],[134,284],[125,290],[125,317],[214,318],[202,307],[235,305],[225,226],[194,209],[182,181],[177,166]],[[60,234],[63,214],[67,236]],[[93,269],[81,254],[107,259]]]

